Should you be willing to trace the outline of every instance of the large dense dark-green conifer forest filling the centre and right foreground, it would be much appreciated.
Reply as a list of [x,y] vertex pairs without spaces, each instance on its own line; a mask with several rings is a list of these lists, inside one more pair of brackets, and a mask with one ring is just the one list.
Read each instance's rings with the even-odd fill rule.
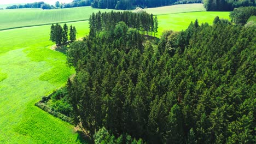
[[104,127],[148,143],[256,143],[255,28],[216,18],[159,42],[125,22],[93,34],[67,52],[77,72],[68,103],[88,135]]

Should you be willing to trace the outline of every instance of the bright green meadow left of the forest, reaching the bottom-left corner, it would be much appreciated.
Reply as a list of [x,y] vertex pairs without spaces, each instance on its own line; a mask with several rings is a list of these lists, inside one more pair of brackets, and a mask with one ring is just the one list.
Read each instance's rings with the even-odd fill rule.
[[[88,33],[88,21],[67,23]],[[50,26],[0,31],[0,143],[81,143],[73,125],[34,106],[74,74],[66,56],[49,49]]]

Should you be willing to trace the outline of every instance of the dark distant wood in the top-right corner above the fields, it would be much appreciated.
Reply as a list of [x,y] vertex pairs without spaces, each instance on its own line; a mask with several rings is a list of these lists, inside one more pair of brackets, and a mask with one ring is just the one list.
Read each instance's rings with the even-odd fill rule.
[[203,5],[207,11],[232,11],[238,7],[256,6],[254,0],[204,0]]

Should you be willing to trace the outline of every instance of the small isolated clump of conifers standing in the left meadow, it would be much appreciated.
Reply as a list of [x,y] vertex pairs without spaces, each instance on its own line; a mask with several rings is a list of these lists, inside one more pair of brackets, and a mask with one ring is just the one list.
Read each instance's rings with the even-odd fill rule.
[[68,26],[66,23],[63,25],[63,28],[58,23],[56,23],[56,25],[51,25],[50,40],[53,41],[56,45],[67,45],[69,42],[73,42],[76,39],[77,29],[75,29],[74,26],[71,25],[68,31]]

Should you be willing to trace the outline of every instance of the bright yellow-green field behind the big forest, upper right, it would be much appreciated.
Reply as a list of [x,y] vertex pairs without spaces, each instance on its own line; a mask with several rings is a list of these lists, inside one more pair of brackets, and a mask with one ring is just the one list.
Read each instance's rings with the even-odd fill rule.
[[168,29],[173,31],[182,31],[182,29],[186,29],[189,26],[191,21],[194,22],[196,19],[199,23],[208,22],[211,25],[214,17],[216,16],[219,16],[220,19],[229,19],[229,12],[202,11],[194,13],[159,15],[158,35],[161,35],[163,31]]

